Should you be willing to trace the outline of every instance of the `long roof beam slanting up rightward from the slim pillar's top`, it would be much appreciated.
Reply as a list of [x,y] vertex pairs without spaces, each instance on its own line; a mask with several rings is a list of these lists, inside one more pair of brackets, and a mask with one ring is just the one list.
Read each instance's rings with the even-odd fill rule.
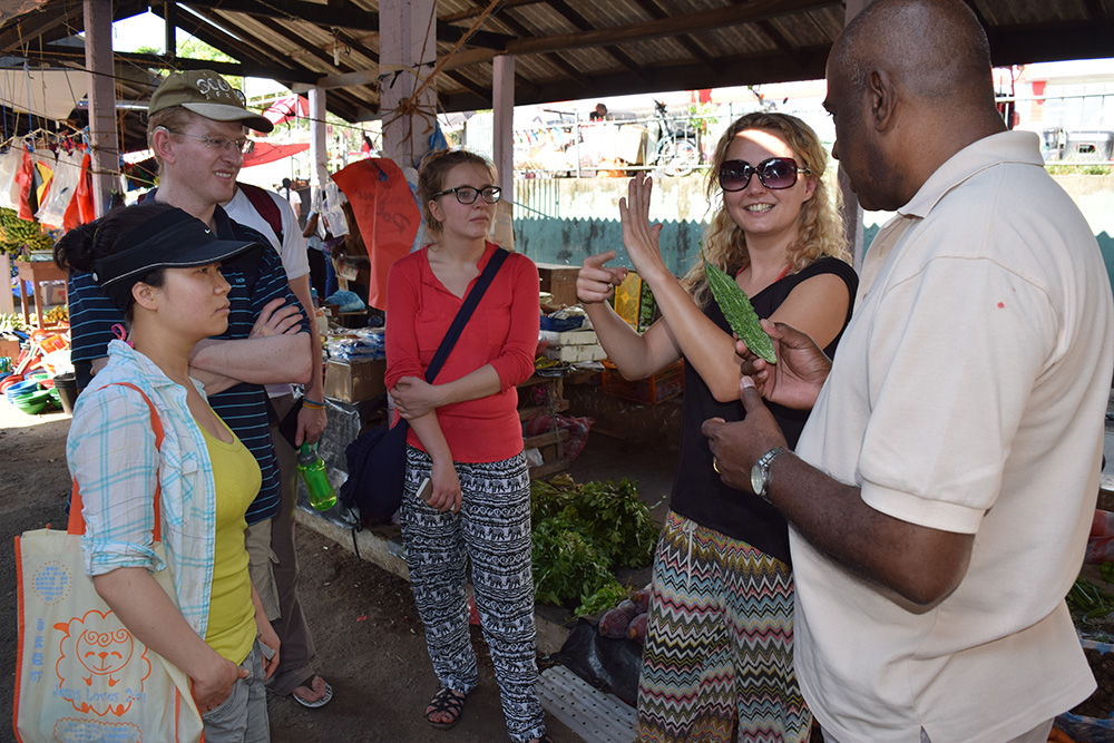
[[721,26],[741,26],[754,21],[802,10],[815,10],[828,6],[842,4],[839,0],[751,0],[739,6],[712,8],[681,17],[662,18],[628,26],[560,33],[548,37],[517,39],[507,45],[507,52],[512,55],[537,55],[545,51],[561,49],[583,49],[604,45],[627,43],[645,39],[693,33]]

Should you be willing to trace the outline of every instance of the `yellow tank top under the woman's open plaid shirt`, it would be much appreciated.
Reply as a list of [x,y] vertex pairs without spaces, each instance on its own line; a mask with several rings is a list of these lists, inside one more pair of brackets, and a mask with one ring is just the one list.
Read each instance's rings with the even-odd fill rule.
[[[223,420],[221,424],[232,433]],[[251,652],[257,632],[244,547],[247,529],[244,514],[260,492],[263,477],[255,457],[235,433],[232,443],[221,441],[204,428],[202,433],[216,482],[216,555],[205,642],[221,657],[240,665]]]

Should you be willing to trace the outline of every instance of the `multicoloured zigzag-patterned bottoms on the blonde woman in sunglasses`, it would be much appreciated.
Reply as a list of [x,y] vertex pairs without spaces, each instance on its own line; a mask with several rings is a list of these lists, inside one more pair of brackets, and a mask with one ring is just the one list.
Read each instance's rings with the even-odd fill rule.
[[801,743],[811,724],[793,675],[789,566],[670,511],[654,558],[638,741]]

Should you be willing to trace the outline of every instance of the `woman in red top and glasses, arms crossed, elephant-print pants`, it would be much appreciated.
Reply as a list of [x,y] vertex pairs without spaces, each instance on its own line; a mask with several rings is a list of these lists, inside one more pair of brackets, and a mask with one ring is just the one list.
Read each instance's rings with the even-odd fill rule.
[[[460,720],[479,681],[468,633],[465,566],[491,651],[510,740],[545,740],[530,571],[530,478],[516,385],[534,373],[538,270],[511,253],[432,384],[426,369],[476,278],[499,201],[479,155],[444,150],[418,189],[433,242],[391,268],[387,384],[410,422],[402,538],[418,613],[441,688],[426,708],[438,727]],[[420,483],[429,480],[428,488]]]

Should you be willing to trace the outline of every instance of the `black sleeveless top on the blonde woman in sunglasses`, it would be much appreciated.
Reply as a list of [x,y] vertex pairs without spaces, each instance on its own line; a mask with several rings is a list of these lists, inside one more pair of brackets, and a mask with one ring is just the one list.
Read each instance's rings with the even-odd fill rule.
[[[836,274],[847,284],[850,300],[843,327],[824,353],[832,356],[843,329],[851,320],[851,307],[859,277],[854,270],[838,258],[822,257],[800,273],[790,274],[751,297],[751,304],[759,317],[769,317],[781,306],[790,292],[807,278],[820,274]],[[709,301],[704,314],[717,327],[731,333],[726,319],[714,301]],[[809,419],[807,410],[791,410],[775,403],[766,403],[770,412],[781,427],[790,448],[797,447],[804,423]],[[712,451],[707,439],[701,433],[701,426],[709,418],[739,421],[745,416],[743,404],[717,402],[707,384],[685,360],[685,399],[682,413],[681,446],[677,452],[677,468],[673,480],[671,508],[701,526],[715,529],[732,539],[739,539],[762,550],[771,557],[790,564],[789,528],[781,512],[761,498],[725,486],[712,469]]]

